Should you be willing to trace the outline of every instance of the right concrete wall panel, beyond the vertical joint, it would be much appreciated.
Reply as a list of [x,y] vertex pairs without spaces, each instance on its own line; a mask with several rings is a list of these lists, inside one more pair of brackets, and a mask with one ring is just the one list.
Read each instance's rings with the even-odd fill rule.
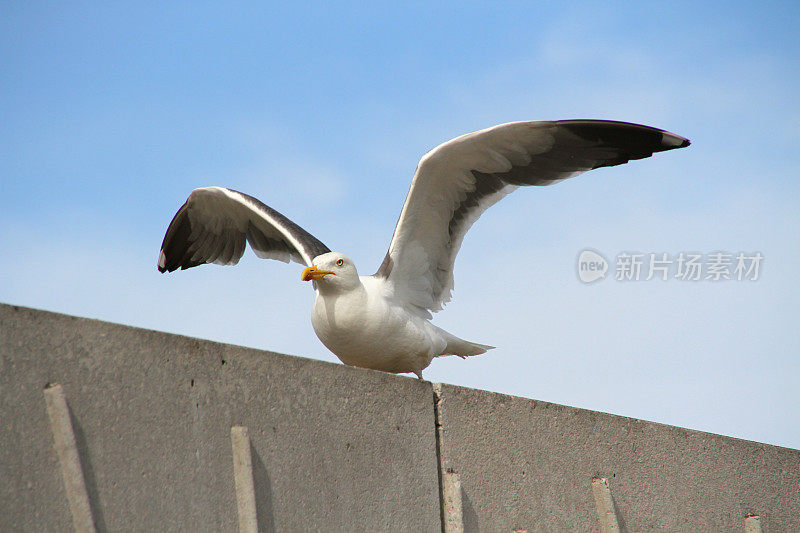
[[[438,387],[438,386],[437,386]],[[465,531],[598,531],[606,478],[622,531],[800,531],[800,451],[442,385],[443,471]]]

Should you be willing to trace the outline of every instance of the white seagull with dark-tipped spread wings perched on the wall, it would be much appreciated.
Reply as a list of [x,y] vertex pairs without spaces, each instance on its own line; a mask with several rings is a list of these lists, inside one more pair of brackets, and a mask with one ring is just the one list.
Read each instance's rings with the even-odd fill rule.
[[235,265],[246,243],[258,257],[296,261],[316,293],[311,324],[322,344],[347,365],[422,379],[435,357],[493,348],[430,322],[450,301],[456,254],[486,209],[518,187],[685,146],[687,139],[664,130],[606,120],[511,122],[447,141],[420,160],[389,250],[371,276],[359,276],[345,254],[252,196],[195,189],[167,228],[158,270]]

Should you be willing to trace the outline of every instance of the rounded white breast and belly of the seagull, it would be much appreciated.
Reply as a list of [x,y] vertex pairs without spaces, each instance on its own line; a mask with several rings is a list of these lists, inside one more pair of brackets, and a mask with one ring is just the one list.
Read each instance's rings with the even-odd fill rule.
[[389,304],[376,292],[362,287],[333,296],[318,293],[311,312],[317,337],[345,364],[421,372],[446,342],[427,320]]

